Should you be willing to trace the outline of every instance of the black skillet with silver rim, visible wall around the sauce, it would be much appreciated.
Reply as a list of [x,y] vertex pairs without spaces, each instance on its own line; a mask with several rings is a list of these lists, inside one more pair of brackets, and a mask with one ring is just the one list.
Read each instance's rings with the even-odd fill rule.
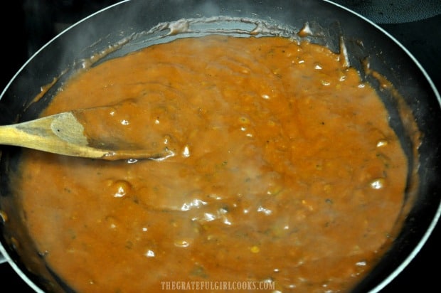
[[[31,111],[23,113],[23,103],[26,104],[31,100],[38,93],[41,85],[46,85],[60,71],[70,66],[72,60],[78,60],[78,58],[89,54],[90,51],[86,52],[84,48],[87,48],[90,43],[102,38],[102,36],[108,36],[109,32],[114,30],[142,31],[161,21],[201,16],[203,14],[219,15],[225,13],[238,16],[250,16],[252,14],[264,17],[270,16],[278,22],[289,23],[289,26],[294,28],[302,28],[306,21],[312,19],[317,22],[322,21],[322,26],[325,27],[338,21],[340,24],[336,26],[336,29],[341,29],[340,32],[345,38],[366,40],[364,41],[365,44],[368,44],[366,50],[369,56],[373,58],[371,62],[377,65],[376,69],[378,71],[394,81],[394,85],[398,90],[407,94],[403,94],[403,97],[413,108],[418,124],[425,133],[425,140],[420,148],[422,159],[420,176],[423,183],[420,187],[418,202],[410,213],[404,232],[398,238],[393,250],[366,279],[366,282],[363,282],[356,290],[364,292],[368,289],[378,290],[384,287],[415,257],[415,254],[432,233],[440,214],[440,188],[436,184],[436,179],[440,178],[439,146],[441,144],[440,137],[434,127],[441,125],[440,96],[418,61],[405,48],[402,48],[391,39],[387,33],[381,31],[372,23],[368,23],[360,16],[351,14],[351,12],[326,1],[270,1],[263,3],[260,3],[260,1],[248,1],[247,3],[186,1],[183,6],[184,9],[180,9],[180,11],[174,11],[173,8],[181,1],[162,2],[151,1],[147,5],[142,4],[141,1],[124,1],[122,4],[81,21],[53,39],[36,55],[33,55],[6,86],[0,100],[0,109],[2,113],[6,113],[1,117],[1,123],[10,123],[16,121],[16,119],[25,119],[38,114],[44,105],[34,107]],[[135,6],[142,9],[134,9]],[[296,9],[293,9],[293,7]],[[139,14],[137,17],[127,19],[127,15],[132,9],[138,10]],[[146,14],[141,14],[141,12],[146,11],[148,12],[147,15],[152,16],[148,20],[145,19]],[[110,20],[112,20],[112,23],[109,23]],[[354,26],[354,29],[350,26]],[[86,39],[79,38],[80,32],[82,30],[87,31],[85,28],[90,27],[96,28],[96,30],[89,31],[90,36],[87,36]],[[73,40],[75,40],[75,43],[72,43]],[[116,37],[113,41],[117,41]],[[65,50],[66,43],[69,43],[70,50],[68,52]],[[381,57],[379,56],[380,51]],[[81,56],[79,52],[84,55]],[[46,102],[49,100],[50,97],[47,98]],[[3,149],[0,161],[3,171],[6,170],[6,167],[11,168],[14,165],[16,154],[15,149]],[[7,176],[7,173],[1,174],[1,181],[2,184],[7,185],[6,180],[4,180],[7,178],[5,175]],[[1,188],[1,196],[9,196],[7,186],[2,185]],[[4,239],[6,238],[5,234],[8,233],[8,225],[2,226],[1,229],[3,234],[1,239],[2,252],[4,252],[18,274],[25,278],[31,287],[39,290],[43,287],[41,276],[27,272],[26,265],[24,265],[26,261],[20,255],[16,255],[14,249],[9,247],[8,241]],[[22,242],[26,243],[26,241]],[[51,273],[49,274],[51,275]],[[42,275],[44,274],[42,273]]]

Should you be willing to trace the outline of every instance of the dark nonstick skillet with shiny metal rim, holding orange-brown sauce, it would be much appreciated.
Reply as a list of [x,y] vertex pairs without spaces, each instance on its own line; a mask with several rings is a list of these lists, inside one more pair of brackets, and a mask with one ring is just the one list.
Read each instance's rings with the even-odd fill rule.
[[[405,102],[412,108],[418,127],[423,132],[423,144],[420,146],[421,166],[418,173],[420,177],[418,200],[390,252],[354,291],[376,292],[382,289],[413,260],[432,233],[440,216],[441,188],[437,180],[441,178],[441,137],[437,127],[441,125],[441,99],[425,70],[403,46],[378,26],[342,7],[327,1],[311,0],[124,1],[80,21],[33,55],[1,94],[0,122],[8,124],[20,119],[36,117],[51,100],[53,92],[48,92],[42,102],[29,107],[26,111],[23,111],[23,106],[38,94],[41,85],[52,82],[53,78],[60,75],[65,68],[74,68],[75,60],[88,57],[110,43],[115,43],[123,35],[129,36],[132,33],[146,31],[156,23],[164,21],[218,15],[261,18],[270,23],[281,23],[292,27],[294,31],[302,28],[304,23],[315,23],[317,29],[323,29],[330,36],[325,43],[334,50],[339,50],[338,39],[335,36],[343,36],[348,43],[353,41],[356,44],[361,41],[362,50],[355,45],[353,48],[349,46],[353,49],[349,50],[350,55],[353,53],[351,62],[357,66],[358,59],[368,56],[373,69],[392,81]],[[222,25],[221,23],[220,26]],[[323,40],[317,38],[313,41]],[[93,46],[90,47],[92,44]],[[139,46],[144,46],[144,43],[135,41],[133,46],[119,50],[119,54]],[[362,71],[362,68],[360,70]],[[387,100],[388,97],[385,99]],[[400,129],[400,122],[397,122],[397,125],[398,132],[403,130]],[[404,144],[409,143],[405,138],[405,131],[398,134],[403,137]],[[14,169],[19,158],[19,149],[4,147],[1,151],[0,210],[6,210],[4,203],[12,196],[7,181],[8,170]],[[43,257],[33,251],[31,241],[26,239],[26,230],[21,227],[19,212],[14,209],[6,211],[9,220],[0,226],[1,251],[10,265],[29,287],[37,292],[51,289],[70,291],[63,280],[58,279],[54,272],[48,270]],[[16,237],[21,247],[27,247],[26,253],[21,254],[20,249],[14,249],[10,241],[11,235]],[[33,272],[28,272],[27,267],[34,267]]]

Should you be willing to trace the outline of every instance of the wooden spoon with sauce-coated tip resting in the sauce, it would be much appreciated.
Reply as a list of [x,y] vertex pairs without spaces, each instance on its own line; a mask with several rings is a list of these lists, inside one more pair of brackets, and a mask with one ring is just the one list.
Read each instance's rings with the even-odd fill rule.
[[[127,148],[127,142],[100,143],[100,138],[85,135],[84,119],[95,112],[102,112],[103,107],[85,110],[62,112],[48,117],[0,126],[0,144],[22,146],[30,149],[48,151],[66,156],[80,156],[92,159],[115,161],[120,159],[155,159],[161,160],[174,153],[164,148],[162,151],[152,149]],[[87,120],[86,120],[87,121]],[[91,144],[91,142],[93,142]],[[104,146],[101,148],[100,146]]]

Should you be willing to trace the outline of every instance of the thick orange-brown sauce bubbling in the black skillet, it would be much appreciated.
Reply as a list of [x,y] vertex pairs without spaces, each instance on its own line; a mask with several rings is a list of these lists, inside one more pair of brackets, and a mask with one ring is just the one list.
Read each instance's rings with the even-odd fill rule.
[[78,73],[44,115],[113,105],[87,129],[172,155],[24,151],[16,193],[38,251],[75,292],[349,291],[395,236],[408,161],[341,61],[282,37],[205,36]]

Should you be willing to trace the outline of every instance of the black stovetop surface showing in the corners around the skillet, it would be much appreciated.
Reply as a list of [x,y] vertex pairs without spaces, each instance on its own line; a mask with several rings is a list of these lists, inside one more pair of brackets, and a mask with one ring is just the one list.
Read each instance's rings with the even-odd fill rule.
[[[6,87],[26,60],[70,24],[117,1],[16,0],[0,11],[0,90]],[[441,1],[336,0],[370,18],[402,43],[423,65],[441,90]],[[440,127],[440,125],[434,125]],[[438,269],[440,223],[413,262],[383,292],[436,292],[441,284]],[[1,292],[33,292],[12,268],[0,265]],[[9,288],[9,289],[6,289]]]

